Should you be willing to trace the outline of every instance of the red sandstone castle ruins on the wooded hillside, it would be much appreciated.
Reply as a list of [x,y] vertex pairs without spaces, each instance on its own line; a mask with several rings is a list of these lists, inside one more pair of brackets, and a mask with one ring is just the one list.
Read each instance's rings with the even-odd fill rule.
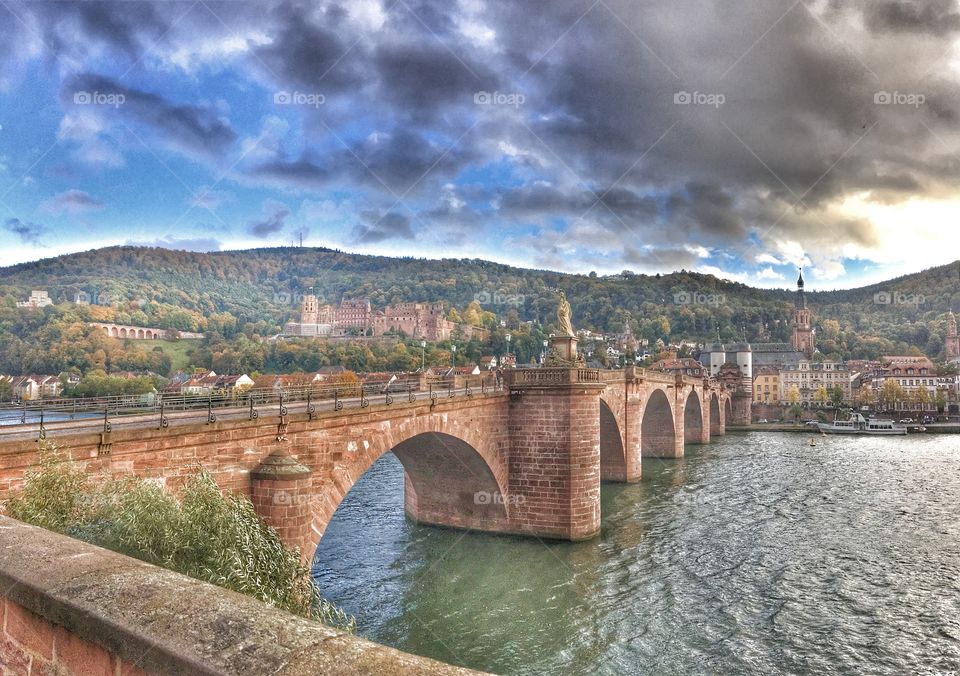
[[[459,325],[463,337],[483,339],[483,329]],[[369,300],[344,299],[339,307],[320,305],[307,295],[300,304],[300,321],[288,322],[284,333],[293,336],[382,336],[403,332],[431,342],[449,340],[457,324],[446,319],[443,303],[397,303],[374,310]]]

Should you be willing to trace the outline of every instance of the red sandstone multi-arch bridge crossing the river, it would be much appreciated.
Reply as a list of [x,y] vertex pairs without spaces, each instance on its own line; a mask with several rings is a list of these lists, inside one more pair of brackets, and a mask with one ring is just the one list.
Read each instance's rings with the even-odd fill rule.
[[[639,481],[642,457],[682,457],[732,415],[714,381],[543,368],[508,371],[503,390],[472,396],[112,432],[51,427],[47,437],[88,471],[172,487],[202,465],[311,557],[347,492],[390,450],[418,522],[584,540],[600,531],[601,480]],[[37,460],[35,436],[11,436],[0,429],[0,500]]]

